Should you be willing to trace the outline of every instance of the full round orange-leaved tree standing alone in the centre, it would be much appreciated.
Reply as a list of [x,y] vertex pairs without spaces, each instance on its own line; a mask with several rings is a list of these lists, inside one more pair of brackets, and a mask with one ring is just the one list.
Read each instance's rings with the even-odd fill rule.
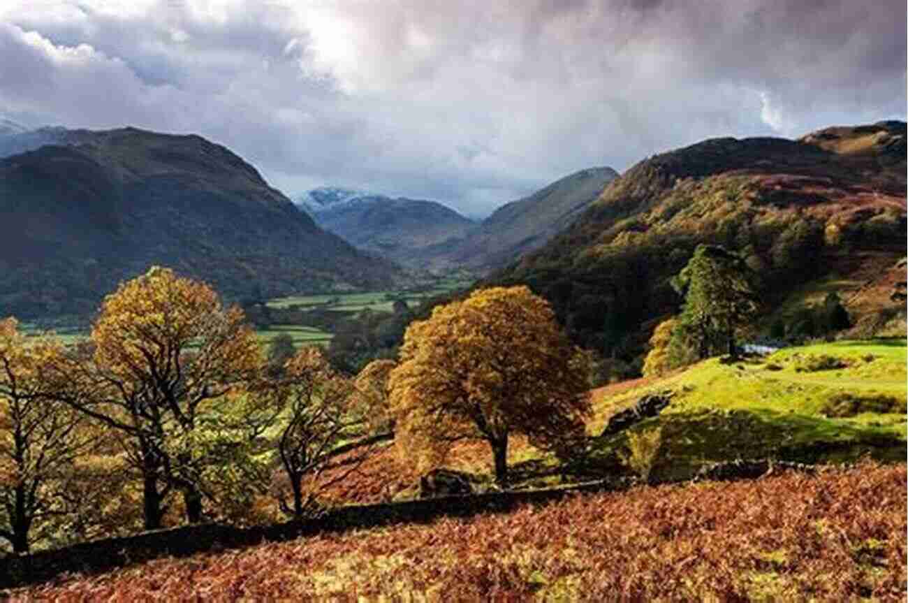
[[[527,287],[473,292],[410,324],[390,373],[395,440],[440,462],[458,440],[489,443],[499,483],[508,438],[558,449],[583,432],[586,356]],[[563,449],[562,449],[563,450]]]

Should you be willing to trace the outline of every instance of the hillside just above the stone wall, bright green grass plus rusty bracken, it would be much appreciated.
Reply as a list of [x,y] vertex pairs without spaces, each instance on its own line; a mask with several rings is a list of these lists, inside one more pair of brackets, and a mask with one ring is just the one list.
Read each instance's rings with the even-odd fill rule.
[[[508,444],[511,486],[556,486],[627,474],[620,455],[627,433],[604,435],[617,413],[652,394],[670,398],[657,417],[629,432],[661,430],[653,475],[688,479],[703,466],[736,459],[802,463],[854,462],[865,456],[904,460],[908,348],[904,339],[837,341],[725,364],[714,358],[666,375],[593,390],[583,460],[566,469],[515,436]],[[492,458],[484,442],[459,442],[445,467],[463,471],[478,490],[489,486]],[[333,487],[336,503],[375,503],[416,496],[419,476],[393,446],[358,475]]]

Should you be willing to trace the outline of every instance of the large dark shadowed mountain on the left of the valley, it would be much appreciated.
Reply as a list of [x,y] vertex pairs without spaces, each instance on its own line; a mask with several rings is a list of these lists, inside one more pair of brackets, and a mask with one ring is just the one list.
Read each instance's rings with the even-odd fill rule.
[[152,264],[232,300],[381,287],[400,274],[200,136],[50,132],[66,144],[0,160],[0,315],[93,311]]

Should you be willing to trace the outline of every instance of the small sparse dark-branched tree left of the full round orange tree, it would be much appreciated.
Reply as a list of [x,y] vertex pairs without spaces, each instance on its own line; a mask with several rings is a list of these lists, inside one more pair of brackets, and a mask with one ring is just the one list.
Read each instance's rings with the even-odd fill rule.
[[300,519],[392,434],[371,428],[368,409],[353,403],[353,383],[331,369],[319,348],[302,348],[287,361],[277,392],[283,400],[277,450],[291,489],[290,501],[278,492],[279,503]]

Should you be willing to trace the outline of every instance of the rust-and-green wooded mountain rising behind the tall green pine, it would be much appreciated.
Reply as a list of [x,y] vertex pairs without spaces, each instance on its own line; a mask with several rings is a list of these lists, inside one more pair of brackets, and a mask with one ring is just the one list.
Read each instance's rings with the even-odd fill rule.
[[790,327],[836,292],[859,325],[877,324],[903,312],[891,283],[862,291],[904,257],[905,172],[903,122],[706,140],[637,163],[484,284],[528,283],[576,341],[633,358],[656,321],[678,311],[668,280],[705,242],[745,256],[767,322]]

